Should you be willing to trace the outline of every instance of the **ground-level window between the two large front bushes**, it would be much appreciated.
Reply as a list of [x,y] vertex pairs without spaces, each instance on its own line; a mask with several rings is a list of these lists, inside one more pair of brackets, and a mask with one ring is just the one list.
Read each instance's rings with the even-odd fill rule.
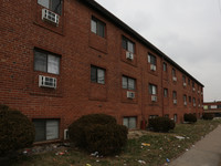
[[59,138],[59,120],[33,120],[35,127],[35,142]]

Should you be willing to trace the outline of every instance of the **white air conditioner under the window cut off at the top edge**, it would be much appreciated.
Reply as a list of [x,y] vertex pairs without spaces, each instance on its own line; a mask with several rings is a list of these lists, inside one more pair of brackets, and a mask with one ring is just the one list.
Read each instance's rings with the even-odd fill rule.
[[48,9],[42,9],[42,20],[49,21],[51,23],[54,23],[59,25],[59,18],[60,15],[48,10]]

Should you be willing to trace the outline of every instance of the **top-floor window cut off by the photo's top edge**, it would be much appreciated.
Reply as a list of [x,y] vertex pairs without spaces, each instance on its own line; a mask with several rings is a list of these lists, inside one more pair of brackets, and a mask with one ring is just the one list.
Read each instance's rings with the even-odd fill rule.
[[61,15],[62,0],[38,0],[38,3]]

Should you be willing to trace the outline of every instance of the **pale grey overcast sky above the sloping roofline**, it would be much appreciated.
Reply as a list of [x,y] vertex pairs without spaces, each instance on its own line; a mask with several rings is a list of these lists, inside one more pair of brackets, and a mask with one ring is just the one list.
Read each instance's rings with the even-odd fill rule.
[[221,101],[221,0],[96,0]]

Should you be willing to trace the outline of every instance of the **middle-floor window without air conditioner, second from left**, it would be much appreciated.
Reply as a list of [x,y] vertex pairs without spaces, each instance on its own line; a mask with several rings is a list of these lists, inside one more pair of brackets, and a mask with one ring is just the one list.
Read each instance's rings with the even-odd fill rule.
[[94,66],[91,66],[91,81],[99,84],[105,84],[105,70]]

